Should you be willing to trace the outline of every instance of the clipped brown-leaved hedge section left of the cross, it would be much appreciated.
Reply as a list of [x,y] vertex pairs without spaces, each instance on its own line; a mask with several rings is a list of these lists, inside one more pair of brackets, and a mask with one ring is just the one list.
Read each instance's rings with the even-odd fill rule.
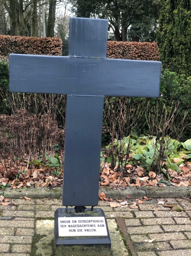
[[0,56],[10,53],[62,56],[62,40],[57,37],[26,37],[0,35]]

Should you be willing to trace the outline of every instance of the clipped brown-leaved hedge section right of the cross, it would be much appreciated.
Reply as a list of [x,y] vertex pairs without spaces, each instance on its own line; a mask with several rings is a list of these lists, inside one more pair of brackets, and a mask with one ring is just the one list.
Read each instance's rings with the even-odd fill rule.
[[107,58],[159,60],[157,43],[140,42],[107,42]]

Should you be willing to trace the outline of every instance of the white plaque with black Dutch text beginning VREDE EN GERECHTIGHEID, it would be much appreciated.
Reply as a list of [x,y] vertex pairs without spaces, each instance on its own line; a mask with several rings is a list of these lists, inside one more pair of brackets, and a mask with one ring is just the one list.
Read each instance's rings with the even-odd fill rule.
[[59,236],[107,236],[104,217],[59,217]]

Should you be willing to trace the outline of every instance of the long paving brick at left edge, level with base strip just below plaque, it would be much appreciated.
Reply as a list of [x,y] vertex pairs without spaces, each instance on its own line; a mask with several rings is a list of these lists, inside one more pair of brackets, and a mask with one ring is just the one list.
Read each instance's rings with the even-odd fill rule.
[[0,236],[0,243],[32,244],[32,236]]

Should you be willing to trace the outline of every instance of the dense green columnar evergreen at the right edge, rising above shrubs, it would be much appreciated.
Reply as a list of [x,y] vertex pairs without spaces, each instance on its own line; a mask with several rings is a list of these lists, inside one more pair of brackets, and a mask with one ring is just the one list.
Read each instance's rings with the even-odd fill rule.
[[161,2],[157,43],[163,68],[191,76],[191,1]]

